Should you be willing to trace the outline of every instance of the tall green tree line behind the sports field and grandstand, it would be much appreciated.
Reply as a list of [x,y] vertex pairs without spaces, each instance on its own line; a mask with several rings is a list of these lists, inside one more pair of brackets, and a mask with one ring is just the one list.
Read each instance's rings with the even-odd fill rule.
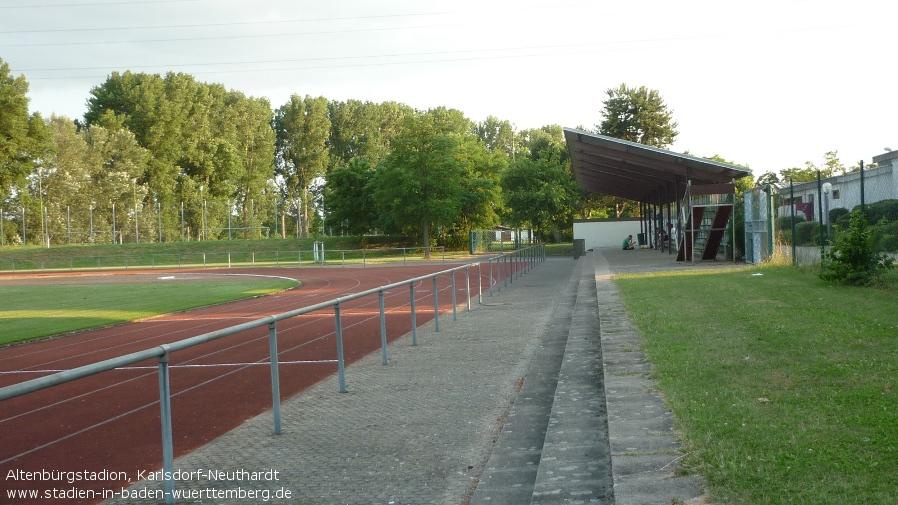
[[[574,181],[558,125],[516,131],[445,107],[298,94],[272,108],[188,74],[130,71],[94,87],[83,118],[45,119],[29,115],[27,90],[0,60],[7,244],[66,243],[73,229],[78,242],[139,241],[140,230],[163,241],[326,230],[453,246],[472,229],[528,227],[551,239],[574,217],[637,211]],[[622,85],[608,95],[597,131],[673,141],[657,92]]]

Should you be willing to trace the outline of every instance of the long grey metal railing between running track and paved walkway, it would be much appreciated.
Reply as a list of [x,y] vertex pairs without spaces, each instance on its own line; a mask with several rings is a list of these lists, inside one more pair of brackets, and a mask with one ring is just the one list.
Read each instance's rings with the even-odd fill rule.
[[[536,246],[532,246],[526,249],[521,249],[519,251],[515,251],[510,254],[503,254],[500,256],[495,256],[488,259],[489,265],[489,281],[490,281],[490,295],[493,293],[493,279],[492,279],[492,265],[496,264],[497,269],[497,282],[498,285],[499,279],[501,278],[508,285],[509,280],[513,283],[515,278],[519,278],[524,275],[527,271],[532,269],[537,264],[543,262],[545,260],[545,247],[540,244]],[[501,266],[501,269],[500,269]],[[384,365],[388,364],[388,356],[387,356],[387,330],[386,330],[386,311],[384,309],[384,292],[390,289],[409,286],[409,297],[411,300],[411,320],[412,320],[412,345],[418,345],[418,328],[417,328],[417,311],[415,309],[415,284],[418,282],[426,281],[427,279],[432,279],[433,281],[433,308],[434,308],[434,327],[435,331],[440,331],[440,311],[439,311],[439,291],[437,289],[437,277],[441,275],[450,275],[452,279],[452,318],[453,320],[458,317],[458,304],[456,300],[456,273],[459,271],[465,271],[465,290],[467,292],[467,310],[471,310],[471,284],[470,284],[470,269],[473,267],[477,267],[477,278],[478,281],[482,278],[481,271],[481,263],[470,263],[463,266],[450,268],[447,270],[442,270],[436,273],[422,275],[420,277],[415,277],[414,279],[408,279],[401,282],[396,282],[393,284],[388,284],[385,286],[380,286],[377,288],[372,288],[366,291],[362,291],[360,293],[353,293],[351,295],[343,296],[340,298],[335,298],[332,300],[328,300],[325,302],[317,303],[315,305],[310,305],[307,307],[302,307],[300,309],[284,312],[281,314],[263,317],[261,319],[257,319],[255,321],[246,322],[243,324],[238,324],[235,326],[231,326],[229,328],[223,328],[220,330],[204,333],[201,335],[197,335],[194,337],[190,337],[184,340],[179,340],[176,342],[172,342],[169,344],[162,344],[150,349],[145,349],[143,351],[134,352],[131,354],[126,354],[123,356],[118,356],[115,358],[111,358],[104,361],[99,361],[96,363],[91,363],[88,365],[84,365],[78,368],[73,368],[71,370],[66,370],[63,372],[57,372],[52,375],[47,375],[45,377],[40,377],[37,379],[32,379],[25,382],[20,382],[18,384],[13,384],[11,386],[6,386],[0,388],[0,401],[8,400],[10,398],[14,398],[17,396],[22,396],[28,393],[33,393],[42,389],[46,389],[51,386],[56,386],[59,384],[63,384],[66,382],[71,382],[77,379],[81,379],[84,377],[88,377],[91,375],[95,375],[101,372],[114,370],[116,368],[121,368],[127,365],[133,365],[135,363],[145,361],[148,359],[156,358],[158,361],[159,367],[159,404],[160,404],[160,413],[162,418],[162,459],[163,459],[163,476],[165,477],[165,496],[166,503],[173,504],[174,503],[174,479],[172,478],[174,472],[174,447],[173,447],[173,434],[172,434],[172,419],[171,419],[171,389],[170,389],[170,381],[169,381],[169,356],[171,353],[180,351],[183,349],[187,349],[189,347],[193,347],[196,345],[200,345],[206,342],[210,342],[212,340],[217,340],[222,337],[234,335],[236,333],[240,333],[243,331],[251,330],[254,328],[259,328],[262,326],[268,326],[268,345],[269,345],[269,353],[271,356],[271,397],[272,397],[272,413],[274,416],[274,433],[276,435],[281,434],[281,400],[280,400],[280,378],[279,378],[279,366],[278,366],[278,351],[277,351],[277,322],[283,321],[285,319],[293,318],[296,316],[300,316],[303,314],[308,314],[311,312],[315,312],[318,310],[327,309],[333,307],[334,309],[334,324],[336,327],[336,340],[337,340],[337,374],[339,380],[339,388],[341,393],[346,392],[346,374],[345,374],[345,361],[343,357],[343,325],[340,317],[341,305],[356,300],[359,298],[363,298],[366,296],[371,296],[374,294],[378,295],[378,305],[380,309],[380,339],[381,339],[381,355],[382,355],[382,363]],[[501,271],[500,271],[501,270]],[[478,299],[479,302],[483,302],[483,283],[478,282],[479,284],[479,293]],[[501,288],[500,288],[501,289]]]

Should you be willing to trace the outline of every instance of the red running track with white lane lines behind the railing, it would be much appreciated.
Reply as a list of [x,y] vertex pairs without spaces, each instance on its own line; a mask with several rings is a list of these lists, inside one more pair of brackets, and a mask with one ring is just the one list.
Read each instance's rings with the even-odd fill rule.
[[[447,268],[447,265],[418,265],[228,269],[227,273],[292,277],[302,284],[276,295],[0,349],[0,387]],[[470,275],[473,303],[476,303],[479,289],[476,267],[471,268]],[[451,278],[444,274],[437,279],[440,312],[451,313]],[[490,281],[486,269],[480,281],[487,291]],[[463,311],[467,301],[464,272],[456,274],[456,287],[458,310]],[[421,325],[433,319],[433,282],[427,279],[418,283],[415,295],[416,318]],[[387,291],[384,304],[388,340],[411,331],[408,287]],[[341,318],[347,364],[380,349],[376,295],[341,304]],[[333,362],[308,363],[336,359],[332,309],[280,321],[277,332],[278,359],[283,363],[280,366],[282,399],[336,372],[337,364]],[[287,363],[291,361],[304,363]],[[175,457],[271,408],[268,362],[267,326],[172,354]],[[110,497],[110,490],[120,491],[128,485],[128,479],[136,481],[139,471],[161,468],[157,367],[156,360],[148,360],[0,402],[0,476],[3,477],[0,503],[99,503],[104,492]],[[347,388],[352,388],[351,369],[347,370]],[[339,393],[334,391],[334,394]],[[42,471],[51,473],[30,476],[17,473]],[[110,479],[102,473],[90,473],[104,471],[123,472],[124,478]],[[35,480],[38,477],[50,480]],[[87,477],[99,480],[83,480]],[[39,497],[13,498],[8,493],[17,490],[36,490]],[[54,498],[59,493],[65,498]],[[81,497],[72,497],[75,494]]]

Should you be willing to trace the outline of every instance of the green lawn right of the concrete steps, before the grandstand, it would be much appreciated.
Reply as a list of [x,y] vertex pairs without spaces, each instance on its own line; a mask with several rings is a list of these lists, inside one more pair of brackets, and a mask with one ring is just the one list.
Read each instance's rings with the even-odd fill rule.
[[898,293],[790,267],[616,280],[717,503],[894,503]]

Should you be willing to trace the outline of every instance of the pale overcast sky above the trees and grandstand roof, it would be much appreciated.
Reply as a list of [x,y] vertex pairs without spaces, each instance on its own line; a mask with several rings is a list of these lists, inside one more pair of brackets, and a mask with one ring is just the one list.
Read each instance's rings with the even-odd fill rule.
[[669,149],[755,177],[898,149],[898,2],[0,0],[32,112],[81,118],[112,72],[183,72],[273,108],[293,94],[595,129],[607,90],[658,91]]

